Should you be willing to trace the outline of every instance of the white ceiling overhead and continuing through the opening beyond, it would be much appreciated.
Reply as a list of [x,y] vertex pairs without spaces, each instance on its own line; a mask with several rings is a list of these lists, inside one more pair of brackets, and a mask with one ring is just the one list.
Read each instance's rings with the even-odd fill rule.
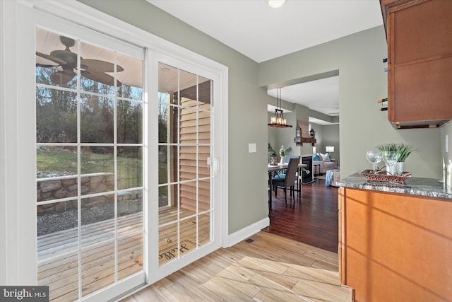
[[[379,0],[287,0],[280,8],[266,0],[146,1],[259,63],[383,24]],[[281,96],[335,116],[338,81],[287,86]]]

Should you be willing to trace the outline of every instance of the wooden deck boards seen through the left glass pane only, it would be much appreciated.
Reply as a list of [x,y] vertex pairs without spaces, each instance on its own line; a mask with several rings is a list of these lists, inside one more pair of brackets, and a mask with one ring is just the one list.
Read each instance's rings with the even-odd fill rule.
[[[143,263],[142,213],[118,218],[118,279],[141,271]],[[138,232],[138,233],[137,233]],[[128,235],[129,234],[129,235]],[[78,298],[78,229],[37,238],[37,279],[49,286],[50,301]],[[114,220],[81,227],[83,296],[114,283]]]

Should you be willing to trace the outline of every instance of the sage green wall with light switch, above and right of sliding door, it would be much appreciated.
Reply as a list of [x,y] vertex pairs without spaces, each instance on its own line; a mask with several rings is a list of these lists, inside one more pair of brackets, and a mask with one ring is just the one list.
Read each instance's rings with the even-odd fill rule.
[[[81,0],[229,68],[229,233],[268,217],[267,108],[258,64],[144,0]],[[256,143],[257,153],[248,153]]]

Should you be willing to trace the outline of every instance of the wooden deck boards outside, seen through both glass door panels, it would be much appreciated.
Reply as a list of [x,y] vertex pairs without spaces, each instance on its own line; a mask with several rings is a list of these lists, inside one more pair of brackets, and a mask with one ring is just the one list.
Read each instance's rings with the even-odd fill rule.
[[[192,211],[182,210],[180,217]],[[176,221],[177,210],[172,207],[160,209],[159,221]],[[198,245],[210,240],[210,216],[199,216]],[[166,251],[177,245],[176,223],[160,228],[159,250]],[[184,249],[188,253],[196,248],[196,217],[181,221],[180,240],[191,240],[195,245]],[[118,218],[117,240],[118,280],[143,269],[143,216],[141,212]],[[114,266],[114,220],[108,219],[81,227],[81,275],[82,295],[102,289],[115,281]],[[188,249],[189,248],[189,249]],[[177,258],[161,257],[160,264]],[[181,253],[182,255],[182,253]],[[78,229],[49,233],[37,238],[38,285],[49,286],[50,301],[74,301],[78,299]]]

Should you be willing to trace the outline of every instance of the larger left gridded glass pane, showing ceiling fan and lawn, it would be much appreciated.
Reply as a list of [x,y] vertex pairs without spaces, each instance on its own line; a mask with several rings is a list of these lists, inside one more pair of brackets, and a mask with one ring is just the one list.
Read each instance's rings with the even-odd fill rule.
[[143,272],[143,60],[41,28],[36,51],[37,279],[76,301]]

